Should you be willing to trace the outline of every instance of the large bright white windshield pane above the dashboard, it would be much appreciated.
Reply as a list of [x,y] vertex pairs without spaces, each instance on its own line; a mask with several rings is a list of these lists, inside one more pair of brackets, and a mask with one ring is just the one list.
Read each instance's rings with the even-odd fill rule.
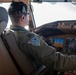
[[71,2],[32,2],[31,4],[36,27],[55,21],[76,20],[76,6]]

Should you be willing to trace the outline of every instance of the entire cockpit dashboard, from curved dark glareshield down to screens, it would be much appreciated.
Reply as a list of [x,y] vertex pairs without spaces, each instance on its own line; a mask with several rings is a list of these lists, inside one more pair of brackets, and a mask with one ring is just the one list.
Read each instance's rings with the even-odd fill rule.
[[[36,29],[36,34],[56,51],[66,55],[76,55],[76,21],[58,21]],[[76,75],[76,70],[58,72],[57,75]]]

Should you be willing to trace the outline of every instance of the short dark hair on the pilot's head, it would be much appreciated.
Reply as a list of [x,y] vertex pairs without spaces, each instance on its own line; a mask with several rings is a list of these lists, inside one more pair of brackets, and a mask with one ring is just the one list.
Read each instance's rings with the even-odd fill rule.
[[25,14],[25,16],[27,15],[27,5],[21,1],[20,2],[12,1],[8,9],[8,13],[10,18],[14,22],[19,22],[20,16],[22,16],[22,14]]

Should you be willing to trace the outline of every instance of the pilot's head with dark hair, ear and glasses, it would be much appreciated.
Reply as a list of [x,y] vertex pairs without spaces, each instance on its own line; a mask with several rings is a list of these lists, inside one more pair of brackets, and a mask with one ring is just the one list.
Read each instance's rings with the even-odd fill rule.
[[13,1],[8,9],[9,16],[14,25],[25,26],[28,24],[28,8],[27,5],[23,2]]

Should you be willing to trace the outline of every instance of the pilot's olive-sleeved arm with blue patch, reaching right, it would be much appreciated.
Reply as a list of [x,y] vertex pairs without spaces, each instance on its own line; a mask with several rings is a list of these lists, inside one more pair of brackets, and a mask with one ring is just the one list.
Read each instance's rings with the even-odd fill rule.
[[53,66],[55,70],[68,71],[76,69],[76,56],[63,55],[56,49],[48,46],[38,35],[30,34],[27,46],[30,54],[46,66]]

